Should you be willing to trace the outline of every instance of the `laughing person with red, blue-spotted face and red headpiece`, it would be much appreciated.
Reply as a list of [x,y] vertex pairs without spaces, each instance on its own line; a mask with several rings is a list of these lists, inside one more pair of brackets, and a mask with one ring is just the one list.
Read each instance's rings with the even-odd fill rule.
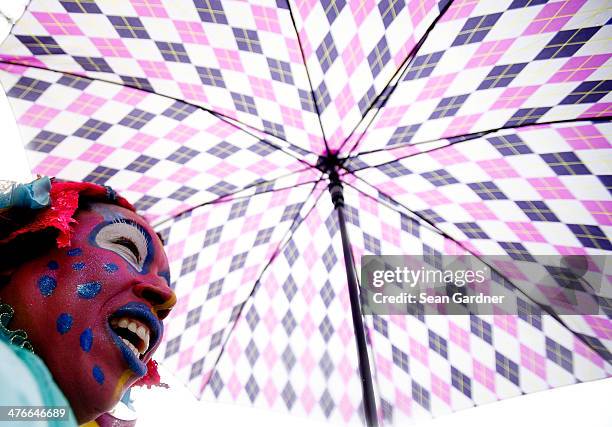
[[95,420],[159,380],[175,302],[162,241],[112,189],[0,182],[0,405],[67,401]]

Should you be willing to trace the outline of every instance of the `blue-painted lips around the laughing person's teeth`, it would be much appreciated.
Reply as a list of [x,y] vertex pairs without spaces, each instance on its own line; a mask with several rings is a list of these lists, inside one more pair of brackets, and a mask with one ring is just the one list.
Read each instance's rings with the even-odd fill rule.
[[164,326],[157,318],[157,316],[155,316],[151,312],[151,309],[147,305],[138,302],[131,302],[120,307],[113,314],[111,314],[108,319],[108,328],[111,331],[115,345],[117,345],[121,350],[121,354],[123,355],[123,358],[127,362],[130,369],[134,371],[135,374],[142,376],[147,371],[145,364],[142,362],[142,360],[140,360],[140,358],[136,357],[136,355],[132,353],[132,350],[130,350],[129,347],[125,345],[119,335],[117,335],[110,327],[110,320],[118,317],[130,317],[132,319],[139,320],[145,323],[149,327],[149,331],[151,334],[149,340],[149,349],[144,354],[143,359],[149,355],[151,349],[154,348],[161,339]]

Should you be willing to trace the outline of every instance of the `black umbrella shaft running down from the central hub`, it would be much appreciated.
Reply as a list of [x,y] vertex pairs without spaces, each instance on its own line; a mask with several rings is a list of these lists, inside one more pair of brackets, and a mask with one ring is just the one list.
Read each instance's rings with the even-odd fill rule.
[[363,408],[365,420],[368,427],[378,427],[378,418],[376,416],[376,397],[374,395],[374,386],[372,385],[372,372],[370,371],[368,347],[366,342],[365,329],[363,326],[363,317],[361,314],[359,285],[357,283],[355,264],[353,262],[353,257],[351,256],[351,243],[349,241],[348,233],[346,231],[342,184],[340,184],[340,180],[338,179],[337,174],[330,174],[330,178],[331,182],[329,185],[329,192],[331,193],[332,201],[334,203],[336,213],[338,214],[338,225],[340,228],[340,235],[342,236],[344,265],[346,267],[349,299],[351,301],[351,314],[353,317],[353,329],[355,330],[357,356],[359,357],[359,373],[361,375],[361,388],[363,391]]

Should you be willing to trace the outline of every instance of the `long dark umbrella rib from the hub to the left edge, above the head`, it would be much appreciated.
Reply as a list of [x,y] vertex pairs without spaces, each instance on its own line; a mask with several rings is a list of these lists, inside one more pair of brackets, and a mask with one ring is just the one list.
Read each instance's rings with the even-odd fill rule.
[[[241,127],[237,126],[235,123],[233,123],[233,121],[232,121],[232,120],[234,120],[234,121],[236,121],[236,122],[238,122],[238,123],[240,123],[240,124],[244,125],[244,126],[245,126],[245,128],[253,129],[253,130],[256,130],[256,131],[258,131],[258,132],[262,132],[262,133],[264,133],[264,134],[266,134],[266,135],[273,136],[273,137],[275,137],[275,138],[280,139],[281,141],[286,142],[287,144],[291,145],[292,147],[296,147],[294,144],[290,143],[289,141],[287,141],[287,140],[285,140],[285,139],[283,139],[283,138],[280,138],[280,137],[278,137],[278,136],[276,136],[276,135],[272,135],[272,134],[270,134],[269,132],[267,132],[266,130],[258,129],[258,128],[256,128],[256,127],[255,127],[255,126],[253,126],[253,125],[249,125],[249,124],[244,123],[244,122],[242,122],[242,121],[240,121],[240,120],[238,120],[238,119],[235,119],[235,118],[233,118],[233,117],[226,116],[225,114],[222,114],[222,113],[219,113],[219,112],[217,112],[217,111],[211,110],[211,109],[209,109],[209,108],[207,108],[207,107],[203,107],[203,106],[201,106],[201,105],[193,104],[193,103],[191,103],[191,102],[185,101],[185,100],[180,99],[180,98],[176,98],[176,97],[174,97],[174,96],[170,96],[170,95],[166,95],[166,94],[162,94],[162,93],[158,93],[158,92],[153,92],[153,91],[148,91],[148,90],[145,90],[145,89],[143,89],[143,88],[141,88],[141,87],[131,86],[131,85],[129,85],[129,84],[125,84],[125,83],[113,82],[113,81],[111,81],[111,80],[107,80],[107,79],[94,78],[94,77],[91,77],[91,76],[84,76],[84,75],[77,74],[77,73],[74,73],[74,72],[57,70],[57,69],[54,69],[54,68],[45,68],[45,67],[41,67],[40,65],[33,65],[33,64],[22,64],[22,63],[15,62],[15,61],[8,61],[8,60],[6,60],[6,59],[0,59],[0,64],[17,65],[17,66],[20,66],[20,67],[25,67],[25,68],[34,68],[34,69],[37,69],[37,70],[42,70],[42,71],[51,71],[51,72],[54,72],[54,73],[66,74],[66,75],[68,75],[68,76],[74,76],[74,77],[78,77],[78,78],[81,78],[81,79],[88,79],[88,80],[91,80],[91,81],[97,81],[97,82],[107,83],[107,84],[111,84],[111,85],[115,85],[115,86],[129,87],[130,89],[139,90],[139,91],[142,91],[142,92],[145,92],[145,93],[150,93],[150,94],[153,94],[153,95],[156,95],[156,96],[160,96],[160,97],[162,97],[162,98],[171,99],[171,100],[173,100],[173,101],[177,101],[177,102],[182,102],[182,103],[184,103],[185,105],[190,105],[190,106],[192,106],[192,107],[194,107],[194,108],[197,108],[197,109],[199,109],[199,110],[205,111],[205,112],[207,112],[207,113],[209,113],[209,114],[211,114],[211,115],[215,116],[217,119],[219,119],[219,120],[223,121],[224,123],[227,123],[227,124],[229,124],[229,125],[231,125],[231,126],[235,127],[236,129],[239,129],[239,130],[241,130],[241,131],[243,131],[243,132],[245,132],[245,133],[248,133],[248,132],[246,131],[246,129],[241,128]],[[253,134],[251,134],[251,133],[248,133],[248,134],[249,134],[249,135],[251,135],[251,136],[255,136],[257,139],[260,139],[262,142],[264,142],[264,143],[266,143],[266,144],[270,145],[271,147],[273,147],[273,148],[275,148],[275,149],[277,149],[277,150],[279,150],[279,151],[282,151],[283,153],[285,153],[285,154],[287,154],[287,155],[289,155],[289,156],[291,156],[291,157],[293,157],[293,158],[295,158],[295,159],[297,159],[297,160],[303,161],[303,159],[300,159],[299,157],[295,156],[294,154],[291,154],[291,153],[289,153],[289,152],[285,151],[285,150],[284,150],[282,147],[279,147],[279,146],[277,146],[276,144],[273,144],[273,143],[272,143],[272,142],[270,142],[270,141],[267,141],[267,140],[262,140],[262,139],[261,139],[261,138],[259,138],[258,136],[253,135]],[[313,153],[313,152],[312,152],[312,151],[310,151],[310,150],[306,150],[306,149],[301,148],[301,147],[296,147],[296,148],[297,148],[297,149],[299,149],[299,150],[302,150],[302,151],[307,151],[307,152],[309,152],[309,153],[311,153],[311,154],[313,154],[313,155],[315,155],[315,156],[317,155],[317,154]]]

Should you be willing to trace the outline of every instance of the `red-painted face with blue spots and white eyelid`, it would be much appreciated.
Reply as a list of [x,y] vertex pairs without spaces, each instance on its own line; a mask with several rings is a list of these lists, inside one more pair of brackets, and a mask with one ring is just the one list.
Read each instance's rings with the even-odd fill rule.
[[86,422],[145,374],[176,297],[162,243],[141,217],[97,203],[75,219],[72,246],[20,265],[0,300]]

